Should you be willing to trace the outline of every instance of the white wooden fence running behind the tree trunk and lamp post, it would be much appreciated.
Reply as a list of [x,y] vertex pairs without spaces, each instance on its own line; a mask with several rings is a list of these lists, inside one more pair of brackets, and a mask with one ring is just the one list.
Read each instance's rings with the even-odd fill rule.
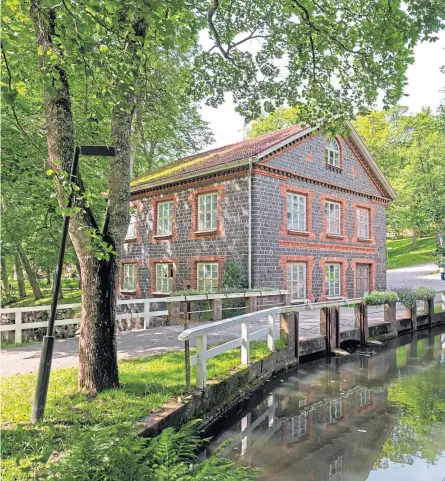
[[[121,299],[117,301],[118,306],[122,305],[137,305],[143,304],[143,310],[141,312],[126,312],[116,315],[116,319],[142,319],[144,320],[144,329],[150,325],[150,317],[156,316],[166,316],[168,311],[152,311],[150,309],[150,304],[159,304],[166,302],[166,298],[159,299]],[[57,310],[66,309],[79,309],[81,304],[59,304]],[[25,329],[37,329],[41,327],[48,327],[48,321],[39,322],[22,322],[22,314],[24,312],[49,312],[51,306],[30,306],[30,307],[14,307],[14,308],[4,308],[0,309],[0,314],[14,314],[15,322],[14,324],[3,324],[0,325],[0,332],[15,331],[15,342],[20,344],[22,342],[22,331]],[[80,322],[79,317],[73,317],[70,319],[57,319],[55,322],[56,326],[68,326],[72,324],[78,324]]]

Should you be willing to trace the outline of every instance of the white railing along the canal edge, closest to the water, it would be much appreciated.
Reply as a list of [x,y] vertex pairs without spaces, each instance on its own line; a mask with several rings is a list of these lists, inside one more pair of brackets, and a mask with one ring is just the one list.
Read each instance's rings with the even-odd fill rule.
[[[340,299],[331,300],[327,302],[317,302],[311,304],[310,301],[301,301],[298,305],[279,306],[265,309],[263,311],[251,312],[241,316],[235,316],[223,321],[216,321],[206,323],[201,326],[192,327],[184,330],[178,337],[180,341],[190,342],[196,340],[196,355],[191,356],[190,365],[196,366],[196,386],[199,389],[204,389],[207,384],[207,361],[213,357],[219,356],[231,349],[241,346],[241,364],[248,365],[250,362],[250,342],[260,339],[267,339],[267,347],[270,351],[275,350],[275,340],[279,338],[279,320],[278,317],[282,314],[289,314],[291,312],[307,311],[313,309],[322,309],[323,307],[334,307],[358,304],[361,299]],[[267,317],[268,325],[263,329],[249,333],[249,323],[255,321],[262,321]],[[207,336],[228,328],[240,326],[241,336],[219,344],[214,347],[207,347]]]

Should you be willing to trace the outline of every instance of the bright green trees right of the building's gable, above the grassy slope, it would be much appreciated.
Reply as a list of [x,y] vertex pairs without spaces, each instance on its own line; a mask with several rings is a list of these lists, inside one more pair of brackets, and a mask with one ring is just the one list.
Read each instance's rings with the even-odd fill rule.
[[445,133],[429,109],[406,107],[372,112],[354,126],[397,193],[388,208],[388,228],[425,233],[445,228]]

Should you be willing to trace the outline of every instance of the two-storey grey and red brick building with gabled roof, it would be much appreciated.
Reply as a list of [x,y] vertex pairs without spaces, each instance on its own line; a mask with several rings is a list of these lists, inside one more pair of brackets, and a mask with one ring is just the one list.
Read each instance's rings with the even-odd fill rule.
[[395,194],[362,140],[299,125],[195,154],[131,184],[121,295],[251,287],[293,298],[386,287],[386,206]]

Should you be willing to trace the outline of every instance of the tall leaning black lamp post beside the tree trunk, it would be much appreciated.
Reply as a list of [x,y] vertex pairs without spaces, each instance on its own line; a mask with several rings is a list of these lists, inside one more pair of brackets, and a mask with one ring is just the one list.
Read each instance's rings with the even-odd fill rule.
[[[99,157],[114,157],[116,149],[114,147],[106,147],[101,145],[80,146],[74,150],[73,165],[71,166],[70,184],[72,185],[76,179],[77,170],[79,168],[80,155],[90,155]],[[72,207],[74,200],[74,189],[71,189],[68,199],[68,209]],[[48,330],[43,338],[42,354],[40,357],[39,374],[37,376],[36,394],[34,405],[32,408],[32,422],[39,422],[45,414],[46,395],[48,393],[49,376],[51,373],[51,362],[54,350],[54,326],[57,314],[57,298],[59,297],[60,282],[62,278],[63,258],[65,257],[66,239],[68,236],[68,226],[70,216],[66,215],[63,220],[62,239],[60,241],[59,259],[57,261],[56,275],[53,284],[51,310],[49,312]]]

